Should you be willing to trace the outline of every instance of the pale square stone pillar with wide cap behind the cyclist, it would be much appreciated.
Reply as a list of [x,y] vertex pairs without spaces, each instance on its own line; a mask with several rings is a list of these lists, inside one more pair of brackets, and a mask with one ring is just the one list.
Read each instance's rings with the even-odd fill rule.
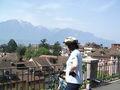
[[[98,59],[89,57],[83,58],[83,62],[87,63],[87,79],[97,77]],[[90,82],[86,84],[86,90],[90,90]]]

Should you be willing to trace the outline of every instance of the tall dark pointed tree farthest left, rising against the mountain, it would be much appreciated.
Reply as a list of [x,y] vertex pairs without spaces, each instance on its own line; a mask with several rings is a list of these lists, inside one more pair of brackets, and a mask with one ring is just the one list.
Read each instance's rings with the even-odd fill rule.
[[17,49],[17,43],[15,42],[15,40],[11,39],[7,45],[7,52],[9,53],[15,52],[16,49]]

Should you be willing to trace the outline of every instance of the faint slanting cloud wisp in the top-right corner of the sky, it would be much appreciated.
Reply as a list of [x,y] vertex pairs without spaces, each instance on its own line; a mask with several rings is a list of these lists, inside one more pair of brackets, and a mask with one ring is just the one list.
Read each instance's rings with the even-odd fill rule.
[[96,12],[104,12],[108,9],[110,9],[111,7],[113,7],[116,3],[116,0],[111,0],[109,3],[102,5],[100,7],[94,8],[92,9],[92,11],[96,11]]

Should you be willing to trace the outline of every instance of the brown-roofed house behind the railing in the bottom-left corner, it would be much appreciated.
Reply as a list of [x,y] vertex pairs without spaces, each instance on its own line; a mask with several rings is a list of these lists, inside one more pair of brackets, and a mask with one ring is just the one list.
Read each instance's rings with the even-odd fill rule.
[[26,62],[13,64],[10,61],[0,61],[0,90],[32,90],[34,87],[35,90],[40,90],[40,88],[44,88],[44,77],[30,73],[29,68],[18,69],[17,66],[25,64]]

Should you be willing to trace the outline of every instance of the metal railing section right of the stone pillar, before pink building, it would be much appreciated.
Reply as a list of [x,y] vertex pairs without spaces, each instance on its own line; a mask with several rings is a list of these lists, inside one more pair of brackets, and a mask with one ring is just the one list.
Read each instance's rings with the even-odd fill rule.
[[97,78],[104,81],[111,81],[120,78],[120,62],[119,61],[104,61],[99,62]]

